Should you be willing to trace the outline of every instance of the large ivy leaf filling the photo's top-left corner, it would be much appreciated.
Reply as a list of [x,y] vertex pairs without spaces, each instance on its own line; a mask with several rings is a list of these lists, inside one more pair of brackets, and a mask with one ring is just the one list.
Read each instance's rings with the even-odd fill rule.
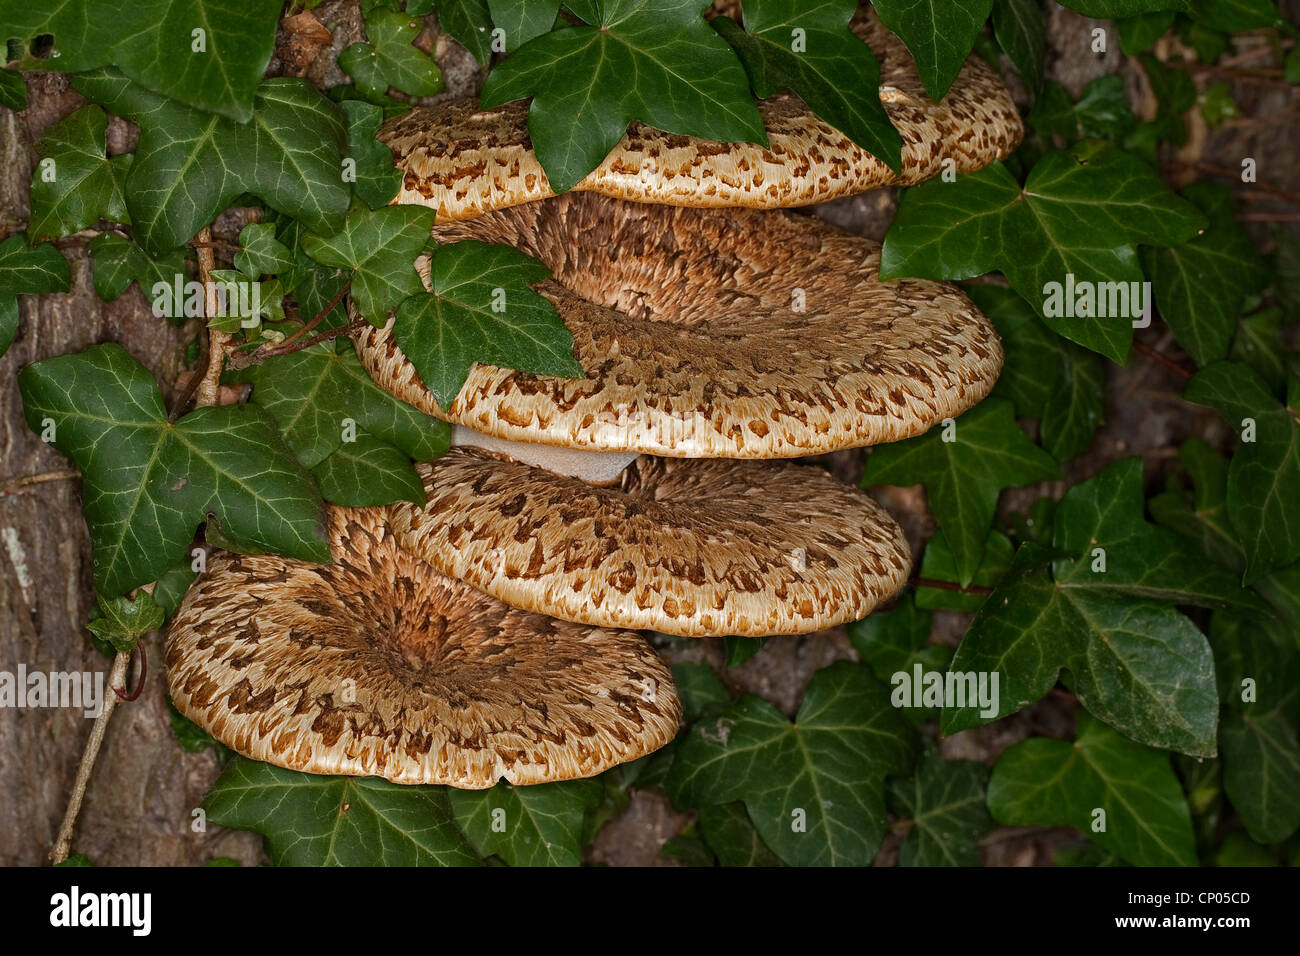
[[25,61],[25,69],[81,73],[116,65],[173,100],[247,122],[281,8],[278,0],[0,0],[0,39],[53,34],[51,57]]

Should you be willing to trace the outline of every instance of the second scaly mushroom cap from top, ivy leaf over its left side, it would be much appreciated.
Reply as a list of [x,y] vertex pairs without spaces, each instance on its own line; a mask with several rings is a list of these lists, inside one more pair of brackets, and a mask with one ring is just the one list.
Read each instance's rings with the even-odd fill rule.
[[[389,329],[370,377],[498,438],[675,458],[796,458],[907,438],[984,398],[991,323],[945,282],[881,282],[880,246],[819,219],[590,194],[438,226],[541,259],[588,378],[476,365],[446,410]],[[426,268],[426,267],[425,267]]]

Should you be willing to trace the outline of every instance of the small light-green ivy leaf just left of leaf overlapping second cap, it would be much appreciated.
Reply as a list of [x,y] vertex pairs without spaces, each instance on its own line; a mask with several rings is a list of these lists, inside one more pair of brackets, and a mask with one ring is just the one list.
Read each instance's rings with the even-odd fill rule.
[[334,235],[304,235],[303,250],[324,265],[352,271],[352,299],[373,325],[410,295],[424,291],[415,260],[429,242],[433,209],[386,206],[348,209]]

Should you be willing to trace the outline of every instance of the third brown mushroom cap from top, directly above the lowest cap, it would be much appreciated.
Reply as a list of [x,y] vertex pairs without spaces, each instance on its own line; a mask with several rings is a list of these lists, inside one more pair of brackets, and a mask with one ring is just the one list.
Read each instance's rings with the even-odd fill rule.
[[820,468],[640,458],[593,486],[477,449],[419,466],[398,542],[516,607],[682,636],[805,633],[866,617],[907,579],[898,525]]

